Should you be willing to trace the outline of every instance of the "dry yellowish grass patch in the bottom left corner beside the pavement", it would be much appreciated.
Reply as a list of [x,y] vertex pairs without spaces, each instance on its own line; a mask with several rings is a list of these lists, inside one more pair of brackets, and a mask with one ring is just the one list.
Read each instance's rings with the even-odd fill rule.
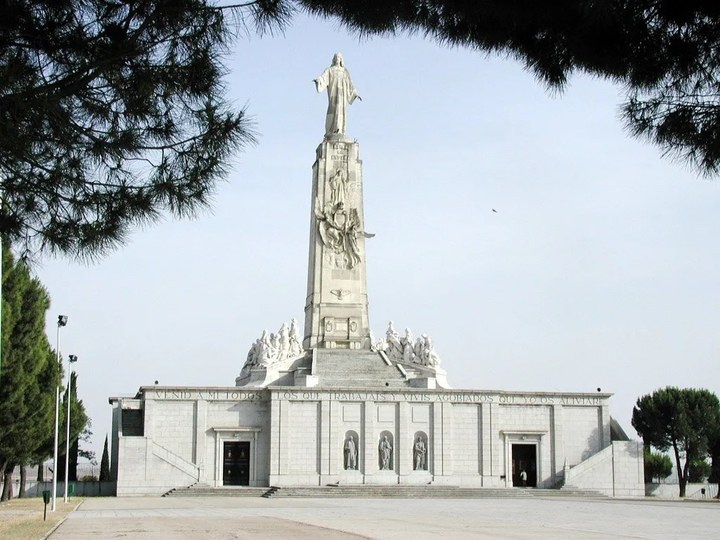
[[42,509],[45,506],[41,497],[27,499],[13,499],[0,503],[0,540],[37,540],[48,534],[60,520],[70,513],[81,498],[71,498],[69,503],[63,503],[60,497],[55,503],[55,512],[50,512],[48,504],[48,519],[42,521]]

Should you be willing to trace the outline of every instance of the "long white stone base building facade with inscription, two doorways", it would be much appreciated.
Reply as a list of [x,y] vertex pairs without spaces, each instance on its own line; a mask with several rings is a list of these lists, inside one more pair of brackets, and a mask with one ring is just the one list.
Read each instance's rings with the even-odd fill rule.
[[[609,397],[143,387],[133,399],[110,400],[117,494],[161,494],[194,483],[513,487],[525,470],[528,487],[552,487],[570,471],[572,485],[642,496],[642,444],[613,442],[621,436],[611,430]],[[350,438],[356,456],[348,462]],[[387,468],[383,438],[390,443]]]

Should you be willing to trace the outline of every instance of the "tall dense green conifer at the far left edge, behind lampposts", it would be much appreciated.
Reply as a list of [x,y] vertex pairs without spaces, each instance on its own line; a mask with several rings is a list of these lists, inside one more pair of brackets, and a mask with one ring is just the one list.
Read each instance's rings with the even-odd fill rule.
[[33,461],[52,431],[60,366],[45,336],[48,293],[8,249],[3,252],[2,378],[0,379],[0,470],[6,475],[2,500],[12,497],[9,476]]

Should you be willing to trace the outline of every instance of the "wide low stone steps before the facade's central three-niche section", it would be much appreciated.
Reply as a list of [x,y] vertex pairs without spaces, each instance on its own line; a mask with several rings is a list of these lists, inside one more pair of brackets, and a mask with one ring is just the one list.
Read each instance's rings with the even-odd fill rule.
[[439,485],[328,485],[271,487],[264,498],[529,498],[531,490],[512,487],[459,487]]

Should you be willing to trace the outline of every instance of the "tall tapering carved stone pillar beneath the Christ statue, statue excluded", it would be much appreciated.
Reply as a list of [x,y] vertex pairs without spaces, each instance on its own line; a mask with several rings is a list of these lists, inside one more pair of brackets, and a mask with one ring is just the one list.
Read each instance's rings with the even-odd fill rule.
[[303,348],[370,348],[358,144],[323,140],[312,166]]

